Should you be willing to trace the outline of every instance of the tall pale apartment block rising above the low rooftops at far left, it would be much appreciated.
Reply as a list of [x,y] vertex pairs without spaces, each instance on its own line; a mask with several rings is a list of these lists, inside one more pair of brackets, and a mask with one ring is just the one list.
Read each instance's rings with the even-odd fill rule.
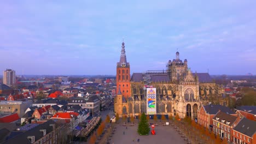
[[3,84],[9,87],[14,86],[16,83],[16,74],[14,70],[6,69],[3,72]]

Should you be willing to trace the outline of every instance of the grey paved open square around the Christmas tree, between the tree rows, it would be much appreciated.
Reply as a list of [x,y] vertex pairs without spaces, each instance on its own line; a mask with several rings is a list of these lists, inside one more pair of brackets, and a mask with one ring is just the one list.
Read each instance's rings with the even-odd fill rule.
[[[128,126],[127,129],[123,125],[117,124],[117,129],[114,131],[114,135],[109,137],[110,144],[119,143],[186,143],[181,135],[177,133],[171,125],[159,125],[155,127],[156,135],[138,135],[138,125]],[[151,131],[151,129],[150,129]],[[124,134],[125,133],[125,134]],[[139,139],[139,142],[137,142]],[[135,142],[133,142],[135,140]]]

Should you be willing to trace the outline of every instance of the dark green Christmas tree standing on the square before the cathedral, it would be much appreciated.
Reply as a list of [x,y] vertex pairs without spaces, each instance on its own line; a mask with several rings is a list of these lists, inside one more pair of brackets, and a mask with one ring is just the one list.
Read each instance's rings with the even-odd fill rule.
[[146,118],[145,113],[142,113],[141,115],[141,121],[139,121],[138,124],[138,134],[139,135],[148,135],[150,131],[148,120]]

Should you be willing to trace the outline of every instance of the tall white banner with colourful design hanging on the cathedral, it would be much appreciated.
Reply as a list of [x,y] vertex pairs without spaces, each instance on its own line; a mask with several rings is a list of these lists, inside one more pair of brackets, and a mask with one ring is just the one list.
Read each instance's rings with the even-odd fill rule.
[[156,114],[156,88],[147,88],[147,113]]

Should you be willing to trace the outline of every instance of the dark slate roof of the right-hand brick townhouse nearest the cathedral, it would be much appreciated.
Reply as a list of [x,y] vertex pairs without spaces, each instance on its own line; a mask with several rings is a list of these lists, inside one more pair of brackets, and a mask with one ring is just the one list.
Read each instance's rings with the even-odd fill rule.
[[235,112],[231,111],[229,107],[222,105],[203,105],[203,108],[205,109],[206,113],[209,113],[210,115],[216,115],[219,110],[228,114],[235,114]]

